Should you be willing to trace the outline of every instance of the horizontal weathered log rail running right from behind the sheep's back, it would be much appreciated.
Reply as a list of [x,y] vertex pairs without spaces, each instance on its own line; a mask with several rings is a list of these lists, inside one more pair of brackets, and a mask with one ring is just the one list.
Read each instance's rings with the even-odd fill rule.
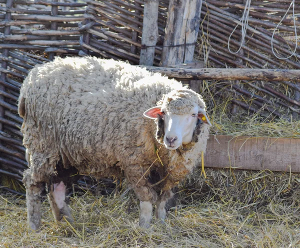
[[145,66],[147,70],[160,72],[177,79],[214,79],[214,80],[266,80],[290,81],[300,80],[300,69],[223,69],[223,68],[167,68]]

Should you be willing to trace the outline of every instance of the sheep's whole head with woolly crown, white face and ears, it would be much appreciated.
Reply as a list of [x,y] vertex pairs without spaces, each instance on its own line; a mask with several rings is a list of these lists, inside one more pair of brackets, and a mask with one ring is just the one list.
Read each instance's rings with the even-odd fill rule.
[[144,116],[157,119],[156,139],[167,149],[197,142],[201,125],[211,126],[201,96],[190,89],[172,90],[157,106],[149,108]]

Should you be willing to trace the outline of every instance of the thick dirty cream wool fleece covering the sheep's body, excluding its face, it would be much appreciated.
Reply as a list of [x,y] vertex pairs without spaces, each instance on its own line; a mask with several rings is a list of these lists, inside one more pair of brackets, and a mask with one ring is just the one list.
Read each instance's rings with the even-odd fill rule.
[[[198,142],[167,150],[155,139],[155,121],[143,116],[156,102],[174,113],[194,103],[205,106],[181,83],[112,59],[56,58],[34,67],[18,103],[30,166],[26,187],[48,182],[60,162],[95,177],[124,174],[140,200],[154,202],[157,192],[168,191],[192,171],[208,137],[202,124]],[[160,146],[163,167],[156,160]],[[151,178],[153,170],[158,179]]]

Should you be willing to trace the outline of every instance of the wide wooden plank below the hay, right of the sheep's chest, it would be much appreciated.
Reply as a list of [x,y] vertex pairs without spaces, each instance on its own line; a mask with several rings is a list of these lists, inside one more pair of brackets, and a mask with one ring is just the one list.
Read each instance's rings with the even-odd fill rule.
[[210,135],[204,165],[300,172],[300,139]]

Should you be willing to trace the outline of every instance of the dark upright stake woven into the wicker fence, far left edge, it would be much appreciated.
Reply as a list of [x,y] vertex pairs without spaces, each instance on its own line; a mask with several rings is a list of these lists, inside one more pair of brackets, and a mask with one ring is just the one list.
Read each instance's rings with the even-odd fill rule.
[[[11,8],[13,0],[7,0],[6,1],[6,8]],[[5,13],[5,20],[10,20],[11,19],[11,12],[6,11]],[[5,26],[4,27],[4,35],[10,34],[10,26]],[[4,41],[4,43],[7,43],[9,41]],[[2,51],[2,56],[8,57],[8,49],[3,49]],[[1,68],[6,69],[7,68],[7,62],[2,60],[1,63]],[[6,80],[6,73],[1,72],[0,74],[0,79],[2,81]],[[3,85],[0,85],[0,90],[5,91],[5,87]],[[0,95],[0,100],[4,100],[4,96]],[[0,117],[4,116],[4,107],[0,106]],[[0,122],[0,131],[3,130],[3,124]]]

